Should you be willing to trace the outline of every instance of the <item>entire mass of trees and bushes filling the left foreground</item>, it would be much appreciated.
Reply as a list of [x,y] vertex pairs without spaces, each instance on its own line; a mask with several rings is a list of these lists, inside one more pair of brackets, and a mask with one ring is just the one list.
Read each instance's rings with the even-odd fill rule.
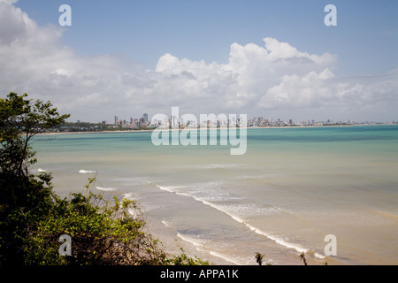
[[[26,97],[0,98],[0,265],[208,264],[182,249],[168,257],[146,231],[137,204],[94,194],[94,179],[84,192],[61,199],[49,173],[31,174],[32,137],[69,115]],[[63,235],[72,239],[67,256],[60,253]]]

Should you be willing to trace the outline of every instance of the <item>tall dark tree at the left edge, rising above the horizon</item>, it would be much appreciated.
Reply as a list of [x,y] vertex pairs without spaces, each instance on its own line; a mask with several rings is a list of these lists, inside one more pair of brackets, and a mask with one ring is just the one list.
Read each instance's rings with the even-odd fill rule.
[[[50,102],[26,99],[10,93],[0,98],[0,263],[21,263],[23,239],[33,228],[34,217],[50,208],[50,175],[28,172],[35,152],[30,144],[40,127],[61,123],[69,115],[60,115]],[[28,220],[29,218],[29,220]]]

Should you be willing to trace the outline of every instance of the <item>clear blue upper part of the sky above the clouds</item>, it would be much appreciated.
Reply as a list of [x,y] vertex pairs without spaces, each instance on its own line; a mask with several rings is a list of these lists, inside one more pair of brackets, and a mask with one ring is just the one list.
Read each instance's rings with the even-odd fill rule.
[[[65,44],[82,54],[126,55],[149,67],[166,52],[226,63],[231,43],[262,44],[265,36],[310,53],[335,53],[341,74],[385,72],[398,63],[393,0],[19,0],[17,6],[40,25],[57,25],[61,4],[73,10]],[[337,27],[325,27],[326,4],[337,7]]]

